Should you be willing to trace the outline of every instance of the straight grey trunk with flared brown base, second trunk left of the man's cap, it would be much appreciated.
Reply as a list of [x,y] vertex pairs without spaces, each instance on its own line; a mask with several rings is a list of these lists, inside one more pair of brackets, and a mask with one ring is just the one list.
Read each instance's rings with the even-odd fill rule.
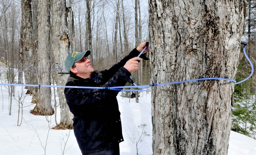
[[[38,72],[51,72],[50,66],[50,0],[38,0]],[[50,74],[37,74],[38,84],[51,85]],[[36,115],[53,115],[51,104],[51,88],[41,87],[38,89],[36,107],[31,111]]]

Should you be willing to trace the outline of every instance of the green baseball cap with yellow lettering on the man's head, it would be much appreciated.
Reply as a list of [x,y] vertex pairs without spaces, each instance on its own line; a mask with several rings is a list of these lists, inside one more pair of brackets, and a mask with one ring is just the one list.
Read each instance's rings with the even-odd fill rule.
[[66,60],[65,60],[65,68],[69,72],[70,68],[74,65],[75,62],[81,60],[84,56],[87,57],[91,54],[90,50],[87,50],[85,52],[73,52],[68,54]]

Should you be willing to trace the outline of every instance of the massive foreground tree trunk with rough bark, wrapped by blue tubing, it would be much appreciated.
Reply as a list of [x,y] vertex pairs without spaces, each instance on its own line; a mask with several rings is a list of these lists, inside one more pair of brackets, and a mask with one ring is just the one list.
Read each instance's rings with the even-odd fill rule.
[[[237,1],[149,1],[151,81],[234,79],[244,32]],[[153,87],[153,154],[228,154],[234,82]]]

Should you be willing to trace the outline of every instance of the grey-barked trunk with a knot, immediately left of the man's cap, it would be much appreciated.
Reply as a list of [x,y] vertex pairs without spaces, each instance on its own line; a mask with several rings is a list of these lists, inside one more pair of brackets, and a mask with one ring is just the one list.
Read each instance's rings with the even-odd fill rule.
[[[64,62],[68,56],[68,48],[70,41],[68,38],[68,12],[66,10],[66,0],[51,0],[51,18],[52,18],[52,31],[51,42],[52,52],[54,54],[54,62],[60,66],[65,66]],[[55,80],[58,86],[65,85],[68,79],[67,74],[57,74],[61,69],[55,69]],[[67,127],[73,126],[73,114],[68,108],[66,98],[64,95],[64,88],[57,88],[60,103],[60,124]]]

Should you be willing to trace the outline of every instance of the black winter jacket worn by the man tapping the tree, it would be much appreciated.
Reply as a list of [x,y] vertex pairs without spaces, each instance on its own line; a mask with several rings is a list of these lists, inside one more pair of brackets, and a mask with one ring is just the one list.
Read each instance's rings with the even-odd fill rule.
[[[91,78],[83,79],[71,74],[66,86],[114,87],[124,86],[126,82],[133,83],[129,78],[131,73],[123,66],[138,54],[135,48],[110,69],[94,71]],[[65,88],[69,109],[74,114],[74,134],[82,153],[106,150],[113,143],[124,141],[116,99],[118,92],[108,89]]]

